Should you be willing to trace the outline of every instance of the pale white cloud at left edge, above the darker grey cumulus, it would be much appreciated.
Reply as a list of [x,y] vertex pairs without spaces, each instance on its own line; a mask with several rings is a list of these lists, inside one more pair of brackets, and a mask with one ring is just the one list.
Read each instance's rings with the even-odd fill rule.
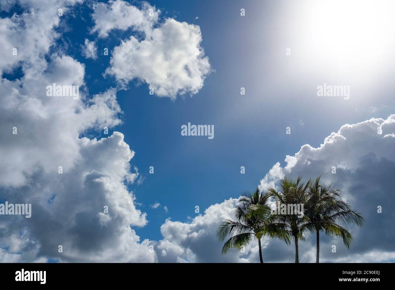
[[0,168],[0,185],[24,185],[37,170],[52,171],[62,166],[67,171],[80,158],[80,133],[90,127],[102,129],[120,123],[114,89],[94,96],[88,103],[82,101],[83,97],[47,97],[46,86],[53,82],[83,86],[84,73],[84,65],[70,56],[56,56],[34,77],[25,75],[21,80],[0,84],[4,92],[0,126],[4,132],[11,132],[14,126],[18,130],[0,147],[0,154],[7,155],[5,166]]

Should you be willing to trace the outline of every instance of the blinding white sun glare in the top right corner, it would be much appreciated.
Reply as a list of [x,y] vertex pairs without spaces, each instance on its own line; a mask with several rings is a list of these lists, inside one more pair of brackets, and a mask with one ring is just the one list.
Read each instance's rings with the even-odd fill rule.
[[318,65],[369,69],[392,57],[395,1],[312,1],[299,8],[300,40]]

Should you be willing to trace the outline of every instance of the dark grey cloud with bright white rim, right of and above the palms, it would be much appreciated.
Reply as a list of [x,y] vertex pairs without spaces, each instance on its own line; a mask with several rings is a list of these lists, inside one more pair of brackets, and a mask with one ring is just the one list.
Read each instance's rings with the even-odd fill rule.
[[[391,241],[395,230],[391,223],[395,213],[392,210],[377,213],[377,207],[391,209],[395,206],[395,183],[391,178],[395,170],[394,133],[395,115],[385,120],[372,118],[343,125],[337,133],[325,138],[319,148],[306,144],[295,155],[286,156],[286,166],[280,168],[282,174],[294,178],[321,175],[322,181],[335,184],[344,199],[366,220],[363,229],[350,226],[354,235],[350,250],[340,246],[340,240],[323,237],[320,247],[323,261],[357,262],[365,257],[366,261],[385,262],[393,257],[395,247]],[[333,168],[336,174],[332,173]],[[261,185],[264,183],[265,180],[261,180]],[[314,247],[314,238],[308,243]],[[337,245],[337,253],[331,252],[332,245]],[[372,253],[381,253],[382,260],[369,258]]]

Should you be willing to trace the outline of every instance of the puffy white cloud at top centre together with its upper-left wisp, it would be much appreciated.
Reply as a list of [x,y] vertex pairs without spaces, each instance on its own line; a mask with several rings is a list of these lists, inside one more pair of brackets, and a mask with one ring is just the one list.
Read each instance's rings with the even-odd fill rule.
[[105,75],[113,75],[123,86],[133,79],[145,82],[160,97],[196,94],[211,71],[200,28],[170,18],[160,23],[159,14],[147,3],[141,9],[121,0],[94,5],[92,32],[100,37],[113,29],[144,34],[130,36],[114,48]]

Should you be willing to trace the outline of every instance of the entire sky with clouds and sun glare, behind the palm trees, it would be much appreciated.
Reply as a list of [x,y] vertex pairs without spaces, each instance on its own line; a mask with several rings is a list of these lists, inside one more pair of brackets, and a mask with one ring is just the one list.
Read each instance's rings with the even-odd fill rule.
[[[394,6],[2,2],[0,202],[32,217],[0,217],[0,261],[259,262],[257,243],[221,255],[216,228],[243,191],[302,175],[366,220],[349,250],[322,237],[322,262],[393,262]],[[54,82],[79,98],[48,96]],[[182,136],[188,123],[214,138]],[[265,262],[293,262],[263,245]],[[313,236],[299,247],[315,261]]]

